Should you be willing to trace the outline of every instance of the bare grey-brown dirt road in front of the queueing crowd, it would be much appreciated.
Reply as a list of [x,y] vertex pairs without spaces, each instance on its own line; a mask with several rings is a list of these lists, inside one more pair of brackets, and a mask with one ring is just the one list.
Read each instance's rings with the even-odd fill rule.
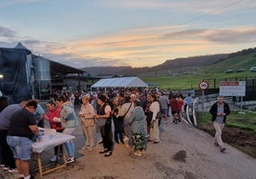
[[74,165],[44,179],[256,179],[255,159],[228,145],[224,153],[220,152],[212,136],[184,123],[164,124],[160,143],[148,143],[139,157],[122,144],[115,145],[113,155],[107,158],[98,153],[101,146],[82,150],[81,129],[76,129],[75,135],[80,157]]

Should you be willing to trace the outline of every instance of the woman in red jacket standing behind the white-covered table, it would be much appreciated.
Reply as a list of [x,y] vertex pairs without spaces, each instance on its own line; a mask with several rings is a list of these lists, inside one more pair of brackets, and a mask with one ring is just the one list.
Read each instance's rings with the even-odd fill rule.
[[[53,121],[54,117],[60,118],[60,107],[58,107],[53,102],[53,100],[48,101],[46,103],[46,107],[47,107],[48,111],[44,117],[45,117],[45,119],[47,119],[49,121],[51,129],[56,129],[57,132],[62,132],[63,128],[61,127],[61,123]],[[51,162],[56,161],[56,155],[57,155],[58,148],[60,148],[59,149],[60,153],[62,152],[61,146],[54,147],[54,155],[50,159]]]

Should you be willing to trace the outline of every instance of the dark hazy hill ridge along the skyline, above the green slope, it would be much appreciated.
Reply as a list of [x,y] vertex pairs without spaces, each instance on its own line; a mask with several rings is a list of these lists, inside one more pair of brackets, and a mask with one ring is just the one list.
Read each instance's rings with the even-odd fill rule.
[[193,68],[201,68],[206,66],[211,66],[214,64],[221,63],[227,59],[234,58],[237,56],[243,56],[249,53],[256,52],[256,48],[250,48],[246,50],[240,50],[231,53],[219,53],[219,54],[208,54],[208,55],[198,55],[183,58],[176,58],[173,60],[166,60],[160,65],[154,67],[143,67],[143,68],[132,68],[130,66],[122,67],[91,67],[82,68],[89,72],[93,76],[139,76],[145,73],[158,72],[160,70],[187,70]]

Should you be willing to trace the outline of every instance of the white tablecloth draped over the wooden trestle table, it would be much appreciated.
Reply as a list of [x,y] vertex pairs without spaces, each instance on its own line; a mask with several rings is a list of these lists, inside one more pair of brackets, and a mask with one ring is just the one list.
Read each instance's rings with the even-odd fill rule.
[[47,148],[59,146],[72,139],[75,139],[75,136],[59,132],[45,133],[39,142],[34,142],[32,144],[32,151],[36,153],[41,153],[43,150]]

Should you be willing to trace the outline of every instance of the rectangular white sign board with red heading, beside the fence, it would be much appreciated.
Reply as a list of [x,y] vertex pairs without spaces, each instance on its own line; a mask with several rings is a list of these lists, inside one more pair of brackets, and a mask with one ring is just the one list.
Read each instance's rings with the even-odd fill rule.
[[245,96],[245,81],[223,81],[220,83],[220,95]]

